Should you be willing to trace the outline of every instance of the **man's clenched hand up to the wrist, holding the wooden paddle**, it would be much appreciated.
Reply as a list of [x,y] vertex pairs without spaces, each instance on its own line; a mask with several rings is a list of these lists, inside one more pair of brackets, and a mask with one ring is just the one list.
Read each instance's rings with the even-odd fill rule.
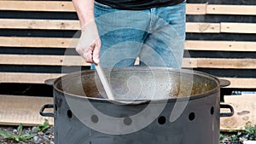
[[101,39],[99,37],[95,21],[90,21],[81,29],[81,37],[76,47],[76,51],[88,63],[95,63],[100,61]]

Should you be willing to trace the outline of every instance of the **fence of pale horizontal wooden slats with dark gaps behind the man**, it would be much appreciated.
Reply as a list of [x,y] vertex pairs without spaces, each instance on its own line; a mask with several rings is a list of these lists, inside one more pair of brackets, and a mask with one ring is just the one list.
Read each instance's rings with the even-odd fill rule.
[[[256,89],[256,2],[188,0],[186,27],[183,68],[228,79],[227,89]],[[62,66],[88,69],[90,64],[81,62],[74,49],[78,31],[79,20],[70,1],[0,0],[0,83],[44,84],[65,74]],[[0,97],[6,100],[4,96]],[[31,101],[36,105],[41,100]],[[8,122],[12,117],[6,113],[0,123],[15,124]],[[255,120],[255,114],[249,117]]]

